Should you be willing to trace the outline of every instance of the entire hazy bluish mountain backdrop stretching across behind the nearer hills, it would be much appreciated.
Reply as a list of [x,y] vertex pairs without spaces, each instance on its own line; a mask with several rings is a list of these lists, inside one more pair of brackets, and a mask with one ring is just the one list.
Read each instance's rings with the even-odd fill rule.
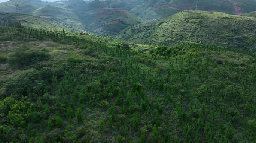
[[167,18],[183,10],[240,15],[256,10],[255,0],[10,0],[0,11],[31,14],[102,36],[115,36],[138,23]]

